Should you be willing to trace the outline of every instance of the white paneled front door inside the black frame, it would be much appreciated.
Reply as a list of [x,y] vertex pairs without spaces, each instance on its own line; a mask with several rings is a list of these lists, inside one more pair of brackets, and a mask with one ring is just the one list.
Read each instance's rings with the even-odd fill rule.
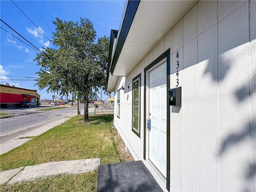
[[149,72],[149,160],[166,178],[166,62]]

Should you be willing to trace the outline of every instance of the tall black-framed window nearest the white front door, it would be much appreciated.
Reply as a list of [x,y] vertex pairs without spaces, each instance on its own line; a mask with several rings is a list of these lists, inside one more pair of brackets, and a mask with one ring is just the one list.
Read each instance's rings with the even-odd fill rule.
[[140,74],[132,80],[132,131],[140,137]]

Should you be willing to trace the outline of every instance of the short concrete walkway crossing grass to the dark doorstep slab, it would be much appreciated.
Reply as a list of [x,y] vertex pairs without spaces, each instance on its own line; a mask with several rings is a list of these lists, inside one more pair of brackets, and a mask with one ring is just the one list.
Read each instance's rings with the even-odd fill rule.
[[0,184],[29,181],[57,174],[80,174],[93,171],[100,165],[100,158],[60,161],[20,167],[0,172]]

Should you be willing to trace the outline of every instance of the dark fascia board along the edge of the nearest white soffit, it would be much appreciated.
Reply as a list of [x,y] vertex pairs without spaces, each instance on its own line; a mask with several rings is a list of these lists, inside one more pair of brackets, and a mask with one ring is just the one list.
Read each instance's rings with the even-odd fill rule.
[[132,21],[140,4],[140,0],[129,0],[124,16],[124,21],[122,24],[122,28],[120,30],[120,35],[118,37],[118,42],[116,46],[116,51],[114,52],[114,57],[111,63],[110,72],[113,74],[114,68],[116,66],[116,62],[121,54],[122,48],[124,46],[124,42],[132,25]]

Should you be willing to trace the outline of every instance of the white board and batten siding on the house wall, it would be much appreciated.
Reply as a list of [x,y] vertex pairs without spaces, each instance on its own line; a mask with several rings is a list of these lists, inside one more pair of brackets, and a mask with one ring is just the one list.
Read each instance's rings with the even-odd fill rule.
[[[168,48],[170,88],[182,86],[182,106],[170,107],[170,191],[255,192],[256,1],[196,2],[119,78],[115,93],[123,83],[130,88],[120,91],[114,124],[135,160],[143,160],[144,68]],[[132,132],[138,74],[140,138]]]

